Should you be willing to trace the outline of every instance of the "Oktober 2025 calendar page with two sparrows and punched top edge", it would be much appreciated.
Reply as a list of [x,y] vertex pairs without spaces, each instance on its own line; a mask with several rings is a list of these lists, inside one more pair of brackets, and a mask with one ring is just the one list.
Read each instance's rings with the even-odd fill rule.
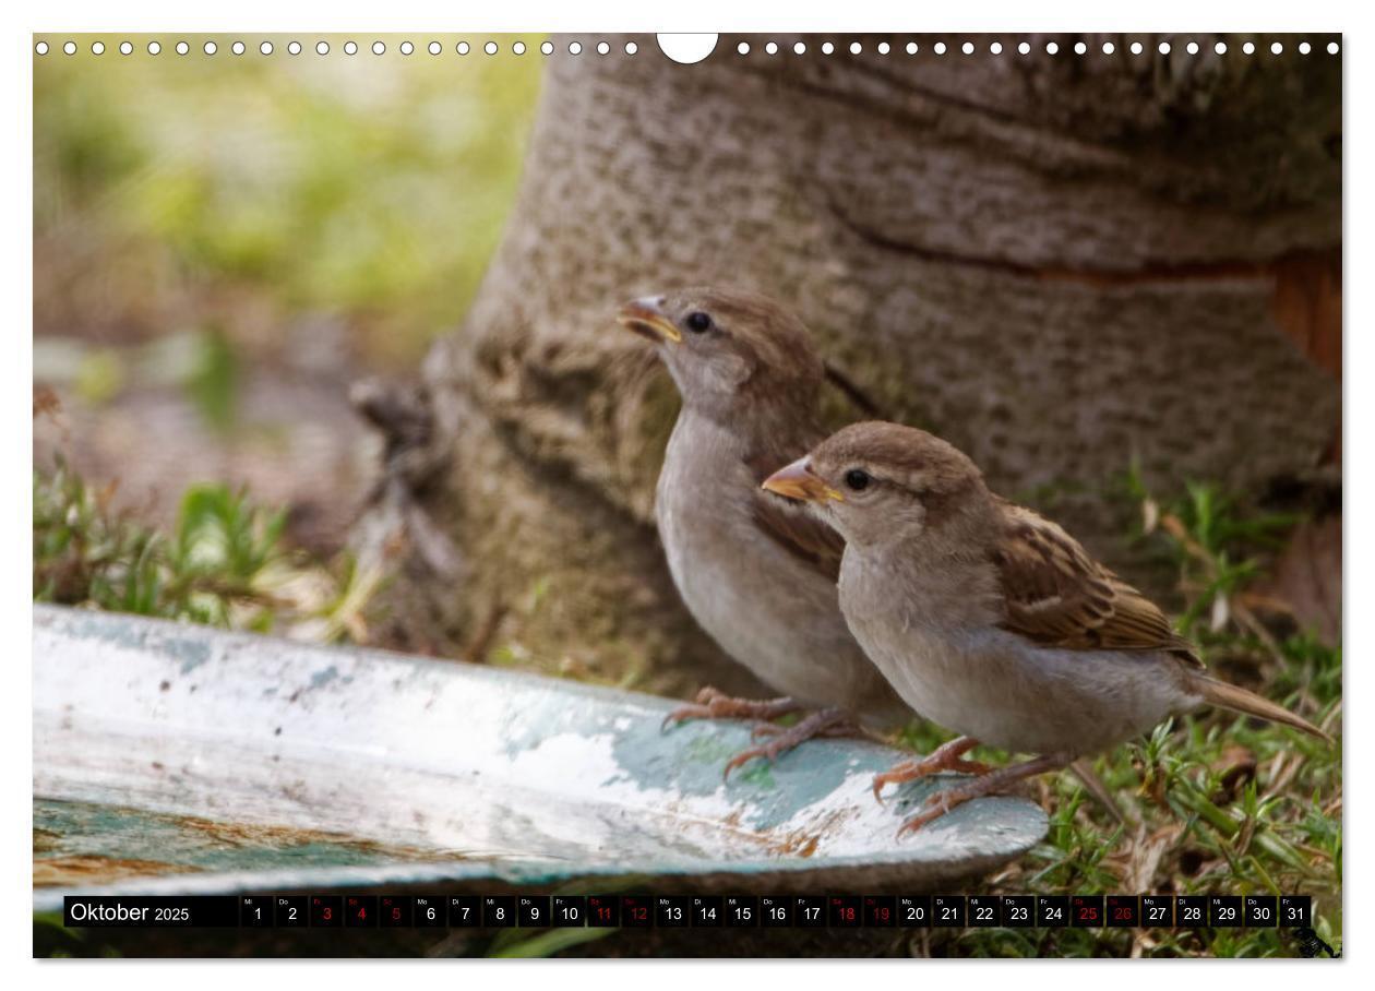
[[28,40],[34,957],[1341,955],[1343,36],[223,22]]

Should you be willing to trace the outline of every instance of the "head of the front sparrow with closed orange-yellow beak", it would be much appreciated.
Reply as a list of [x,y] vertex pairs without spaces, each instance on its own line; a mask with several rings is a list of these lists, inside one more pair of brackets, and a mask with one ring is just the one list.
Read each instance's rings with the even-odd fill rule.
[[925,430],[881,422],[833,433],[763,488],[806,502],[859,547],[916,536],[960,543],[991,504],[983,474],[961,451]]

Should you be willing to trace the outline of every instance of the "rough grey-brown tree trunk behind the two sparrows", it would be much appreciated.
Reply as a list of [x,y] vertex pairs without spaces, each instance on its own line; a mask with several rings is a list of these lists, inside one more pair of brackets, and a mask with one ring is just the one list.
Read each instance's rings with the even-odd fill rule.
[[[1077,56],[1071,36],[1055,56],[1046,37],[1028,56],[1009,37],[998,56],[986,40],[962,55],[962,37],[936,55],[931,36],[916,56],[906,37],[830,56],[778,38],[769,56],[752,37],[742,58],[722,37],[696,66],[635,40],[635,56],[595,38],[569,56],[560,38],[505,243],[425,366],[432,422],[406,455],[424,469],[393,473],[388,517],[419,551],[395,595],[414,646],[749,687],[678,603],[653,531],[676,396],[612,315],[664,287],[786,300],[891,418],[1129,573],[1126,507],[1103,488],[1133,458],[1162,491],[1260,492],[1332,449],[1326,38],[1276,58],[1235,37],[1225,56],[1122,38]],[[450,548],[419,547],[440,533]]]

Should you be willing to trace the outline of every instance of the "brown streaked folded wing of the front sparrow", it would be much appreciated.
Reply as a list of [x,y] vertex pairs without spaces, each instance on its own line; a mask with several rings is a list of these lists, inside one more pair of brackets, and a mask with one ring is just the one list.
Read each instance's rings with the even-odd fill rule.
[[[1199,664],[1159,608],[1100,565],[1060,526],[1002,503],[993,551],[1006,602],[1005,630],[1068,650],[1167,650]],[[1202,665],[1200,665],[1202,667]]]

